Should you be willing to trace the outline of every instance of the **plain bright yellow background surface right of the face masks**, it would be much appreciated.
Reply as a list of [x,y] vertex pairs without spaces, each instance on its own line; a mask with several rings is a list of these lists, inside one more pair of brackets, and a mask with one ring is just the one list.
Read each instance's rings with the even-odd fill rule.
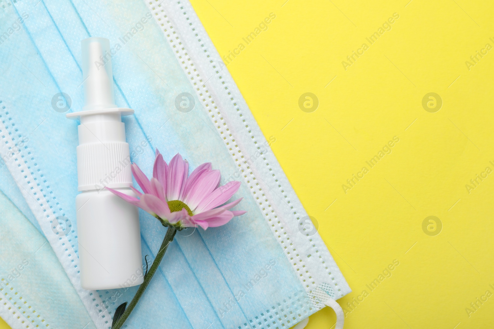
[[[492,328],[494,5],[467,0],[192,0],[218,52],[228,55],[269,13],[276,18],[228,64],[308,214],[353,289],[338,300],[345,328]],[[374,44],[366,37],[400,18]],[[367,49],[346,71],[346,57]],[[480,58],[480,57],[479,57]],[[330,82],[330,83],[329,83]],[[307,113],[306,92],[319,100]],[[422,107],[430,92],[443,105]],[[366,161],[394,136],[390,154]],[[346,194],[342,184],[368,167]],[[429,236],[422,221],[436,216]],[[435,233],[438,231],[436,227]],[[374,291],[366,286],[394,259]],[[353,297],[369,295],[356,307]],[[360,297],[362,298],[362,297]],[[356,303],[354,302],[354,305]],[[473,309],[472,309],[473,310]],[[326,308],[307,329],[334,325]],[[0,328],[8,328],[0,320]]]

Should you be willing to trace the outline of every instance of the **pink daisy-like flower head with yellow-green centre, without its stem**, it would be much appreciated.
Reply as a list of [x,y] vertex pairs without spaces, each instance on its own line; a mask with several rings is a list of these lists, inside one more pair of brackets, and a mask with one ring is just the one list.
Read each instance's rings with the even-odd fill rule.
[[232,181],[219,186],[220,172],[212,170],[211,163],[203,163],[188,176],[189,163],[176,154],[169,164],[156,150],[153,178],[149,180],[137,167],[131,166],[132,174],[144,193],[130,187],[139,198],[108,188],[125,201],[144,209],[164,226],[172,225],[180,230],[184,227],[201,226],[203,229],[226,224],[234,216],[246,211],[231,211],[242,198],[221,206],[240,187]]

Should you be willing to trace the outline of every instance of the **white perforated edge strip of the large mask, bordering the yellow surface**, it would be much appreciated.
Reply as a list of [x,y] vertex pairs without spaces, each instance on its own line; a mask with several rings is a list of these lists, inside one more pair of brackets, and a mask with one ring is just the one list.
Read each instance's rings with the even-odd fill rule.
[[[297,230],[293,232],[293,225],[291,225],[290,229],[284,227],[288,226],[286,225],[287,221],[296,223],[296,227],[300,219],[306,216],[306,213],[274,155],[269,152],[268,154],[261,152],[263,164],[268,168],[269,175],[276,182],[280,194],[283,195],[283,202],[290,208],[291,218],[289,219],[281,219],[272,206],[273,201],[275,201],[272,194],[277,192],[269,191],[271,187],[262,179],[258,180],[260,178],[259,172],[263,171],[256,170],[256,163],[247,164],[247,157],[244,157],[244,154],[249,153],[243,149],[246,144],[250,143],[251,146],[259,149],[259,146],[266,140],[258,130],[255,120],[230,74],[224,70],[220,72],[220,65],[224,67],[224,63],[220,63],[220,56],[207,36],[206,31],[204,31],[204,27],[189,1],[144,0],[144,2],[152,12],[168,44],[172,47],[182,69],[189,77],[198,99],[202,102],[203,109],[206,110],[235,163],[238,164],[252,196],[258,201],[259,208],[265,215],[273,234],[277,237],[281,247],[285,250],[285,255],[293,265],[294,271],[298,274],[310,300],[309,309],[312,310],[313,307],[318,310],[325,306],[321,302],[321,292],[325,292],[326,296],[331,299],[338,299],[351,292],[319,234],[303,236]],[[171,13],[171,17],[169,13]],[[201,67],[200,64],[203,63],[208,63],[209,68],[205,68],[204,65]],[[212,72],[212,74],[205,74],[206,70],[209,73]],[[220,104],[219,98],[221,97],[228,98],[230,104]],[[230,110],[229,113],[227,113],[228,110]],[[231,113],[232,111],[234,114]],[[230,127],[232,120],[228,120],[233,116],[236,116],[234,120],[243,122],[242,125],[246,131],[233,132]],[[242,141],[238,139],[242,139]],[[262,187],[263,185],[264,187]],[[271,197],[267,195],[271,195]],[[294,202],[295,200],[296,202]],[[297,209],[301,210],[298,211]],[[300,237],[305,240],[300,239]],[[305,255],[302,255],[298,250],[302,245],[304,246],[303,251],[306,252]],[[313,278],[316,273],[308,269],[309,266],[307,264],[310,257],[319,258],[320,260],[317,268],[311,266],[314,272],[318,272],[319,280]],[[321,272],[326,275],[322,279]],[[300,301],[296,296],[292,297],[293,300]],[[283,306],[279,303],[278,309],[285,307],[284,312],[290,313],[289,317],[296,320],[296,315],[293,317],[289,310],[288,304],[290,302],[287,300],[283,302],[287,304]],[[274,310],[275,308],[273,307],[272,309]],[[264,315],[261,316],[264,317]],[[302,315],[298,316],[302,317]],[[298,319],[298,321],[303,318]],[[253,323],[252,320],[250,322]],[[288,321],[287,324],[291,326],[294,323]]]

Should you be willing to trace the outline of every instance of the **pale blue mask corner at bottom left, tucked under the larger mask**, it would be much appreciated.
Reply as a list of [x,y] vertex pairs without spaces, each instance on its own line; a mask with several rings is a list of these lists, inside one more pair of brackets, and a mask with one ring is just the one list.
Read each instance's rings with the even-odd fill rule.
[[11,328],[94,329],[45,237],[1,192],[0,214],[1,318]]

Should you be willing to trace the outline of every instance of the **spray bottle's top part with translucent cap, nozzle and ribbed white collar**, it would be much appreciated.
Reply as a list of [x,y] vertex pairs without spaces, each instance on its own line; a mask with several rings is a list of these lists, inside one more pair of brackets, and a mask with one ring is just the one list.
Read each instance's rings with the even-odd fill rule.
[[110,40],[90,37],[82,40],[81,46],[84,106],[82,111],[67,114],[68,118],[81,119],[78,189],[132,186],[129,147],[121,116],[134,110],[114,104]]

